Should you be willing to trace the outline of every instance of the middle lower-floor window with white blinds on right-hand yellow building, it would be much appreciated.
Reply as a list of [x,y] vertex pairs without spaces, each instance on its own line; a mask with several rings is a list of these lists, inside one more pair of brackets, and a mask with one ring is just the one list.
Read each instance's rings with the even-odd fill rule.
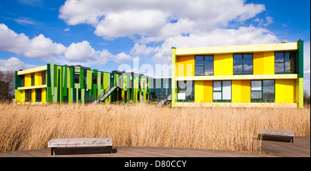
[[213,101],[231,101],[231,81],[213,81]]

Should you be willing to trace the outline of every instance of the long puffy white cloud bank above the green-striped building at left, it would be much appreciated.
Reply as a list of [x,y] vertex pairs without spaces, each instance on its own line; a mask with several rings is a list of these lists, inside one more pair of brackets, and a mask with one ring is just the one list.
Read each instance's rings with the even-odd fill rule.
[[[71,43],[70,46],[66,47],[62,43],[54,43],[50,38],[44,37],[43,34],[29,39],[23,33],[17,34],[10,30],[3,23],[0,24],[0,50],[22,54],[28,58],[57,61],[57,63],[66,63],[68,65],[102,66],[108,61],[122,63],[133,60],[133,57],[124,52],[114,55],[109,50],[94,50],[88,41]],[[10,63],[12,65],[17,64],[15,66],[18,66],[19,69],[30,66],[23,64],[17,58],[3,60],[1,61],[2,68],[9,68]]]

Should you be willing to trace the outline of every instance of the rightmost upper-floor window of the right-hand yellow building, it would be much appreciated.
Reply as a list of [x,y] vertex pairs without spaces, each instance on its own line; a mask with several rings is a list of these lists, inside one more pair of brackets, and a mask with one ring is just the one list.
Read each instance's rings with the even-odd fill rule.
[[274,72],[292,73],[294,72],[294,52],[274,53]]

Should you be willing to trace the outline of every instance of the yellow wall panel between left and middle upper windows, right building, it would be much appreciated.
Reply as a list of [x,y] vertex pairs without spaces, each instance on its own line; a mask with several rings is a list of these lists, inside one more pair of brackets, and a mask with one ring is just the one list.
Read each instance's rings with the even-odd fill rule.
[[214,55],[214,75],[233,75],[233,54]]

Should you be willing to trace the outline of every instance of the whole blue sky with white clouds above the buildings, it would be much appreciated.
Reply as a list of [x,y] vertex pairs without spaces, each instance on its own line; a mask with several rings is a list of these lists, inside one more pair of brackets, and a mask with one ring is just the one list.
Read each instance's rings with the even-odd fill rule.
[[106,72],[127,64],[144,73],[143,64],[169,66],[172,46],[284,39],[305,43],[304,87],[310,92],[310,1],[0,0],[0,70],[54,61]]

